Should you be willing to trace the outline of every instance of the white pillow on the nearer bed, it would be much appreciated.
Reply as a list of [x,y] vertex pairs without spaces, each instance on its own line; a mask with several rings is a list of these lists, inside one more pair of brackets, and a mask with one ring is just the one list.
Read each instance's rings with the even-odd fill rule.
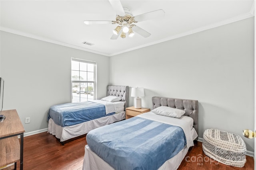
[[168,117],[175,117],[175,118],[180,118],[182,115],[185,114],[184,110],[181,109],[174,109],[172,107],[168,106],[160,106],[152,110],[153,113],[157,115],[163,115],[163,116],[168,116]]

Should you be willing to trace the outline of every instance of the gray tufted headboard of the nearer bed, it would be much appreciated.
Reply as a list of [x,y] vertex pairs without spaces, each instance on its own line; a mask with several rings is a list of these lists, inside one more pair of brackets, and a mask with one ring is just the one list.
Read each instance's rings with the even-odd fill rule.
[[152,97],[153,109],[160,106],[168,106],[172,108],[182,109],[186,113],[185,116],[194,119],[194,128],[198,134],[198,100],[186,100],[175,98]]

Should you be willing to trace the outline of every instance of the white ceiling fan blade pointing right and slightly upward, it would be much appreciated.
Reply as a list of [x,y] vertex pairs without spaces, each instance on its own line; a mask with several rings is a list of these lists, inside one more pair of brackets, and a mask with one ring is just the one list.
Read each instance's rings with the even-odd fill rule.
[[163,17],[165,14],[164,10],[156,10],[152,12],[147,12],[144,14],[140,14],[138,16],[134,16],[135,21],[146,21]]

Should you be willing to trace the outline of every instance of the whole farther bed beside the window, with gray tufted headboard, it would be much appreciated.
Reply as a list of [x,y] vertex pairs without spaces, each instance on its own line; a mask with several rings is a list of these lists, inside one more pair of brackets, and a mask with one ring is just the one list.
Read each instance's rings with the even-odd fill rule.
[[[129,86],[108,85],[106,96],[119,97],[124,102],[124,105],[115,105],[122,103],[120,101],[105,104],[105,101],[99,99],[50,107],[48,113],[48,133],[55,135],[64,145],[64,141],[84,135],[92,129],[125,119],[125,109],[128,107]],[[108,105],[115,105],[114,108],[116,110],[114,112],[111,110],[111,113],[107,113]],[[68,121],[72,121],[73,124],[66,125],[69,123],[68,121],[59,123],[58,120],[63,120],[62,117],[68,117]]]

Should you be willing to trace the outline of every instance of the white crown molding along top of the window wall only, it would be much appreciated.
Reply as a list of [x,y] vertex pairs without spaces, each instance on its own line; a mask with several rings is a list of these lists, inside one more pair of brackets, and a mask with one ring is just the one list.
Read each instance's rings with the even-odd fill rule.
[[16,29],[10,29],[10,28],[2,27],[1,26],[0,30],[8,32],[8,33],[13,33],[13,34],[16,34],[16,35],[22,35],[24,37],[29,37],[29,38],[38,39],[38,40],[41,40],[41,41],[46,41],[48,43],[54,43],[54,44],[62,45],[62,46],[65,46],[65,47],[70,47],[70,48],[73,48],[73,49],[79,49],[79,50],[87,51],[87,52],[90,52],[90,53],[95,53],[95,54],[104,55],[104,56],[110,56],[108,54],[101,53],[99,51],[94,51],[94,50],[86,49],[86,48],[83,48],[83,47],[78,47],[76,45],[62,43],[60,41],[55,41],[55,40],[52,40],[52,39],[47,39],[47,38],[44,38],[44,37],[40,37],[38,35],[34,35],[34,34],[30,34],[30,33],[25,33],[25,32],[22,32],[22,31],[18,31]]

